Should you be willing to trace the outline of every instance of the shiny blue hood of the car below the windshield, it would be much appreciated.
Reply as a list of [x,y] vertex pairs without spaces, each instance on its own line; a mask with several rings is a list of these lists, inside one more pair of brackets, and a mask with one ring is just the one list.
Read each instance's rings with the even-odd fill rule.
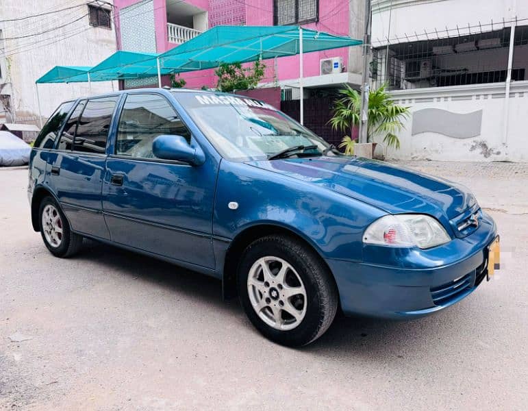
[[376,160],[323,156],[247,164],[340,192],[392,214],[416,212],[453,219],[476,203],[464,186]]

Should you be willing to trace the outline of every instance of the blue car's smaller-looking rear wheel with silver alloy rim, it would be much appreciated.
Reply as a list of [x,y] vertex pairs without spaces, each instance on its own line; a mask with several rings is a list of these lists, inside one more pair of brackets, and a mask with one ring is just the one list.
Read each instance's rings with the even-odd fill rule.
[[66,216],[53,197],[42,199],[38,216],[42,240],[53,256],[67,258],[81,249],[82,236],[71,231]]

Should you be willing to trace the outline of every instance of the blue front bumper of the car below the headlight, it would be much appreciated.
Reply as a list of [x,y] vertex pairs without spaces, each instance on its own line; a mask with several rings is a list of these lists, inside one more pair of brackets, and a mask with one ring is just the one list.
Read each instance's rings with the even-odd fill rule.
[[[327,260],[344,314],[392,319],[426,316],[473,292],[486,277],[496,225],[482,213],[479,228],[433,249],[364,246],[364,261]],[[392,262],[383,264],[380,262]]]

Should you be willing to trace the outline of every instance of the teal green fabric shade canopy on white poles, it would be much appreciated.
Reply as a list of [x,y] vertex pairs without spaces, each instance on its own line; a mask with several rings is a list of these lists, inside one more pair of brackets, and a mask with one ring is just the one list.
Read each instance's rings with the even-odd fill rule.
[[[166,53],[116,51],[97,66],[55,66],[37,83],[108,82],[212,69],[300,53],[298,26],[216,26]],[[303,53],[362,44],[360,40],[302,29]]]

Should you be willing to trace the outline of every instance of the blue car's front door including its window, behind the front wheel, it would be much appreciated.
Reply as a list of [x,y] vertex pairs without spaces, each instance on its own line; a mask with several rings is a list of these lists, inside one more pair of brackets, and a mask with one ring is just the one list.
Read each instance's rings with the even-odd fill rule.
[[163,134],[197,144],[164,96],[127,95],[103,180],[103,212],[112,241],[213,269],[218,166],[212,160],[192,166],[155,158],[152,142]]

